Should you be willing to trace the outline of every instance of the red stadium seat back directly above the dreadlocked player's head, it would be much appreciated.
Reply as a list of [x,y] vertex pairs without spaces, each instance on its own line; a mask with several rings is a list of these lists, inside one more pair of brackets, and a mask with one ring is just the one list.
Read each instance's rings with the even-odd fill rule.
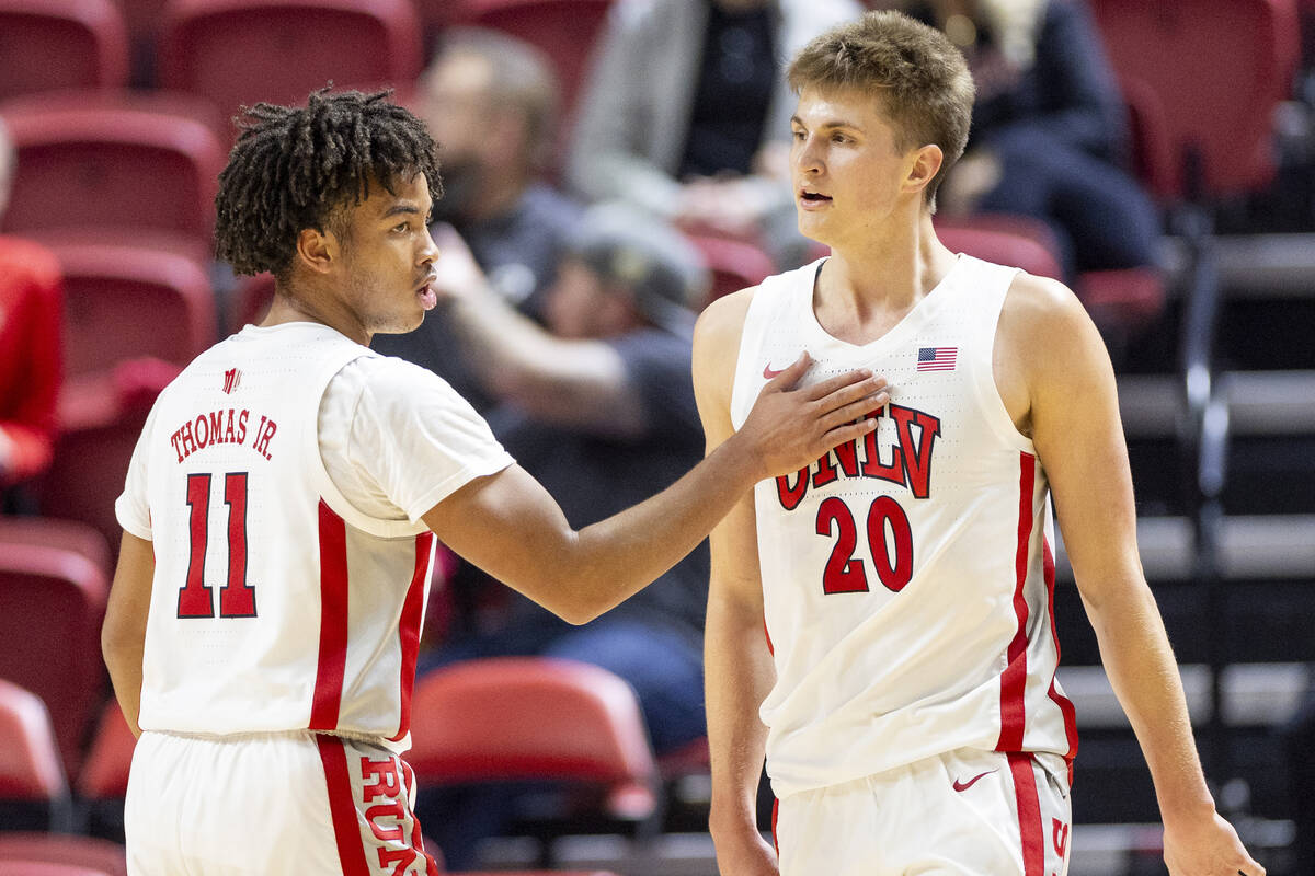
[[330,80],[410,85],[422,50],[409,0],[171,0],[160,84],[206,97],[229,117],[259,101],[304,102]]

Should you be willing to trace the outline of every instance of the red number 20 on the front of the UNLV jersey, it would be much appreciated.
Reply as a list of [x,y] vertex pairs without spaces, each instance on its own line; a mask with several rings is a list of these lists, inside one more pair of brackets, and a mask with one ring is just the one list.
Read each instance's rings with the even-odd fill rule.
[[[836,531],[836,540],[826,561],[826,571],[822,573],[822,592],[868,592],[868,573],[863,569],[863,558],[853,558],[853,549],[859,544],[853,514],[838,496],[827,496],[818,507],[818,535],[830,537],[832,529]],[[888,548],[888,535],[894,542],[894,552]],[[898,594],[913,578],[913,532],[909,529],[909,516],[890,496],[877,496],[868,508],[868,548],[877,566],[877,578],[886,590]]]

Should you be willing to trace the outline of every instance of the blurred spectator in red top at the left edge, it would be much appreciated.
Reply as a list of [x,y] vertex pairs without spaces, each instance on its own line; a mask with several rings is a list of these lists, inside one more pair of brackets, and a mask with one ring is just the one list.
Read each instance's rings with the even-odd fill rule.
[[[14,150],[0,122],[0,215]],[[59,264],[43,247],[0,238],[0,504],[34,511],[14,485],[50,465],[62,378]]]

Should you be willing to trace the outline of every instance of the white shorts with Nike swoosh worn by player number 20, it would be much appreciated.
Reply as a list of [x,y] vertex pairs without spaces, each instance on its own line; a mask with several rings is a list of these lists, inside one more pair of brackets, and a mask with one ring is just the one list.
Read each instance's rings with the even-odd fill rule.
[[1070,823],[1063,758],[977,749],[792,795],[773,813],[781,876],[1065,876]]

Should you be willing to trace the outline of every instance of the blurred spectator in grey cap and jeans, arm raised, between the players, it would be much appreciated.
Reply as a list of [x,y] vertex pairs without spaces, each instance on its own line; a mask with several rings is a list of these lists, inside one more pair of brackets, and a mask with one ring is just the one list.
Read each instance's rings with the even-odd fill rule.
[[[460,240],[443,230],[439,309],[487,389],[508,408],[489,422],[517,461],[585,525],[673,483],[704,453],[690,378],[694,314],[709,276],[681,235],[622,205],[590,209],[546,302],[548,330],[484,289]],[[498,414],[512,416],[498,416]],[[509,594],[492,629],[444,642],[421,671],[462,659],[550,655],[602,666],[639,696],[658,753],[705,733],[702,619],[707,548],[584,626]],[[497,833],[509,804],[469,792],[425,820],[454,869]]]

